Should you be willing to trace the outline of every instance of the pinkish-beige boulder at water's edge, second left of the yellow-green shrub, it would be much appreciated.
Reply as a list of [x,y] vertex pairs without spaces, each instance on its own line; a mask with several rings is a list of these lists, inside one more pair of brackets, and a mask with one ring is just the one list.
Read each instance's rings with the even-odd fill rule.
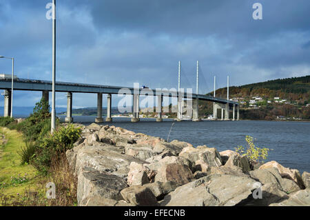
[[187,147],[183,148],[179,156],[189,159],[193,163],[202,160],[209,166],[222,166],[222,158],[216,148],[207,148],[207,146]]

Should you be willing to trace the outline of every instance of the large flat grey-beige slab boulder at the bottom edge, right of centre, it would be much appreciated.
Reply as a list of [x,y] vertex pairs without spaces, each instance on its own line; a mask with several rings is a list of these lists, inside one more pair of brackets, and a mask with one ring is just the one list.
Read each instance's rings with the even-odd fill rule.
[[212,174],[170,192],[161,206],[235,206],[255,189],[250,177]]

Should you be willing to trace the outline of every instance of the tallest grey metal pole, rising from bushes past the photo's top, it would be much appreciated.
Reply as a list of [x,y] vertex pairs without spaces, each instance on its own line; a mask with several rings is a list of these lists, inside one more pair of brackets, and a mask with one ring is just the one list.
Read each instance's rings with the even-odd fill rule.
[[52,1],[52,121],[51,132],[53,133],[56,128],[56,110],[55,110],[55,79],[56,79],[56,0]]

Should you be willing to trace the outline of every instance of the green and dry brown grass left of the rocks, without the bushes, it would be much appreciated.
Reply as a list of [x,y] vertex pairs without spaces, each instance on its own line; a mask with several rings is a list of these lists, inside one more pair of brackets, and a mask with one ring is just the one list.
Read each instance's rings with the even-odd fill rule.
[[[76,206],[76,177],[65,157],[54,161],[48,176],[21,164],[23,135],[0,127],[0,206]],[[24,179],[25,177],[25,179]],[[56,184],[56,199],[46,199],[46,183]]]

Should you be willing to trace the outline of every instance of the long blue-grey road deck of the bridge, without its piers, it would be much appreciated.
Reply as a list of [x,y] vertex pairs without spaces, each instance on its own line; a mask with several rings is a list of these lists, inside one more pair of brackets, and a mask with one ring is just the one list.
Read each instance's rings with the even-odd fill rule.
[[[0,79],[0,89],[10,90],[12,88],[11,79]],[[85,83],[67,83],[67,82],[56,82],[55,90],[56,92],[81,92],[81,93],[104,93],[104,94],[118,94],[118,91],[122,88],[126,88],[134,93],[134,88],[120,87],[120,86],[104,86],[104,85],[93,85]],[[14,79],[14,90],[28,90],[28,91],[52,91],[52,81],[43,81],[35,79]],[[140,88],[140,91],[142,89]],[[143,89],[144,91],[149,91],[151,94],[156,95],[156,90],[154,89]],[[165,97],[178,97],[178,92],[175,91],[162,91]],[[238,105],[238,102],[227,101],[227,99],[220,99],[216,97],[207,96],[205,94],[187,94],[184,92],[183,97],[196,98],[205,101],[214,101],[216,103],[229,103],[229,106],[233,104]]]

